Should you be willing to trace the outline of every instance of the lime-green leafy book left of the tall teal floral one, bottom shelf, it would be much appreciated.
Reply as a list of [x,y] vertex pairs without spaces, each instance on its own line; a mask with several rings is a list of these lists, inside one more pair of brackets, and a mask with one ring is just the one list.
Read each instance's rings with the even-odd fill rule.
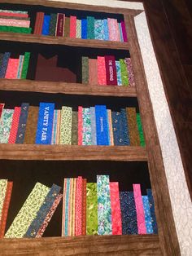
[[98,235],[97,183],[86,184],[86,235]]

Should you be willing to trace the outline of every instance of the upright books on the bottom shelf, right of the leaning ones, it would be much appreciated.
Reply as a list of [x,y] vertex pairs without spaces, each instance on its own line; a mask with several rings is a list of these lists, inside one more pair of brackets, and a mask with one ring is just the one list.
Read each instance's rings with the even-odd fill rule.
[[97,175],[97,183],[64,179],[62,236],[157,233],[151,189],[146,192],[142,196],[140,184],[120,192],[108,175]]

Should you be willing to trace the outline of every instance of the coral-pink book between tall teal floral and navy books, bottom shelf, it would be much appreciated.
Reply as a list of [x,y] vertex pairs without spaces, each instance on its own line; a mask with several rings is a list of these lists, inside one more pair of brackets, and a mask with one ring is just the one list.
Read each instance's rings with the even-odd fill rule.
[[122,235],[119,183],[110,183],[112,235]]

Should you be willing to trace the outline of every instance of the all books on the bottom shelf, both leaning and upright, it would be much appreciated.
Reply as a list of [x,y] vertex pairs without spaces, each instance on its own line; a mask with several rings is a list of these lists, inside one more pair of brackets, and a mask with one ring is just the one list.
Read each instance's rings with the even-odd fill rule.
[[[5,234],[12,182],[0,179],[1,237],[41,237],[63,197],[62,236],[127,235],[157,233],[151,189],[142,196],[141,184],[132,192],[120,192],[109,175],[97,175],[97,183],[82,176],[66,178],[61,187],[36,183]],[[2,227],[3,226],[3,227]]]

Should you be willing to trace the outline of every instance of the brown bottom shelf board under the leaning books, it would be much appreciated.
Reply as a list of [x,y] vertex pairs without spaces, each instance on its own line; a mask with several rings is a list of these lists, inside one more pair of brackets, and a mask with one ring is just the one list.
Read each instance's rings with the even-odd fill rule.
[[0,254],[7,255],[161,255],[155,235],[68,236],[35,239],[2,239]]

